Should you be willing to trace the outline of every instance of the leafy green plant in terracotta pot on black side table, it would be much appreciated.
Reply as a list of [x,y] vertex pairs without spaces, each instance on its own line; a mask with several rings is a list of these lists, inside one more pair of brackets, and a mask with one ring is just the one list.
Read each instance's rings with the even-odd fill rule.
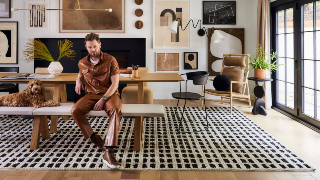
[[[249,66],[254,68],[254,77],[258,79],[264,79],[266,78],[266,70],[268,71],[277,71],[277,66],[283,65],[283,64],[276,64],[276,61],[273,61],[278,53],[274,52],[272,54],[269,54],[269,52],[265,52],[262,48],[262,46],[259,44],[258,48],[256,49],[259,56],[257,58],[251,58],[248,56],[250,63]],[[268,59],[267,59],[268,57]],[[270,61],[273,61],[273,63],[270,63]],[[248,68],[246,68],[245,72],[248,71]],[[272,73],[272,72],[271,72]]]

